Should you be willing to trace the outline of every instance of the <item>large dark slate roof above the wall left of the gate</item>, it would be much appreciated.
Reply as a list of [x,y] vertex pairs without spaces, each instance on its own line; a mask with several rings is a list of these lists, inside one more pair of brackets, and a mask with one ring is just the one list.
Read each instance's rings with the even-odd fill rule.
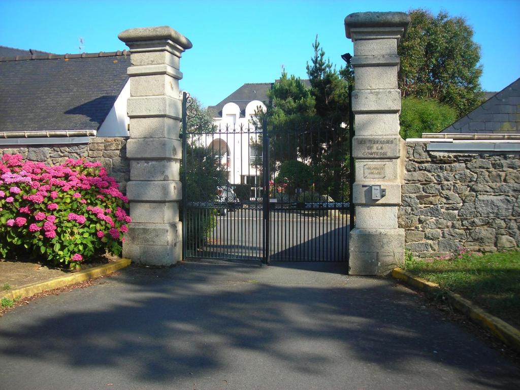
[[0,132],[97,130],[129,66],[126,51],[0,58]]

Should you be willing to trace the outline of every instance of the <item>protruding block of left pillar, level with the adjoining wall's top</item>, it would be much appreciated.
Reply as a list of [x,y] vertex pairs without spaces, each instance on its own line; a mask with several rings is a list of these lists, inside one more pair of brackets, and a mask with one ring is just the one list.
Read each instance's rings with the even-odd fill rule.
[[181,160],[182,148],[178,139],[131,138],[126,143],[126,157],[130,160]]

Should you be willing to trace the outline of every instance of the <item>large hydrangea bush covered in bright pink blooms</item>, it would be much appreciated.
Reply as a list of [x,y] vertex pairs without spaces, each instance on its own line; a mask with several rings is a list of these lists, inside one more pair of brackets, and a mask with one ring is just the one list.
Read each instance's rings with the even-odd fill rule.
[[4,154],[0,161],[0,255],[29,252],[78,266],[106,250],[122,252],[128,199],[99,162],[57,166]]

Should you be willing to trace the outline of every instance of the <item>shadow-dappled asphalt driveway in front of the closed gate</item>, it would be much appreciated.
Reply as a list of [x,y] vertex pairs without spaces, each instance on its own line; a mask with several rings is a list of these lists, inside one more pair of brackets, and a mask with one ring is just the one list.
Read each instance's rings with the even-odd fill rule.
[[344,266],[130,268],[41,298],[0,318],[0,388],[520,387],[518,367],[418,295]]

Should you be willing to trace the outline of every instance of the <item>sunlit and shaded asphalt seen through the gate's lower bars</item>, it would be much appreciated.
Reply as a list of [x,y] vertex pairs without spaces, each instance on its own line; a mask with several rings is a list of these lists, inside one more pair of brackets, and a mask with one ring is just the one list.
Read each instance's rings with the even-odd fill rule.
[[[326,213],[321,211],[321,213]],[[270,213],[272,261],[346,261],[348,214],[277,211]],[[262,258],[264,219],[262,210],[239,209],[217,217],[209,243],[189,256]]]

